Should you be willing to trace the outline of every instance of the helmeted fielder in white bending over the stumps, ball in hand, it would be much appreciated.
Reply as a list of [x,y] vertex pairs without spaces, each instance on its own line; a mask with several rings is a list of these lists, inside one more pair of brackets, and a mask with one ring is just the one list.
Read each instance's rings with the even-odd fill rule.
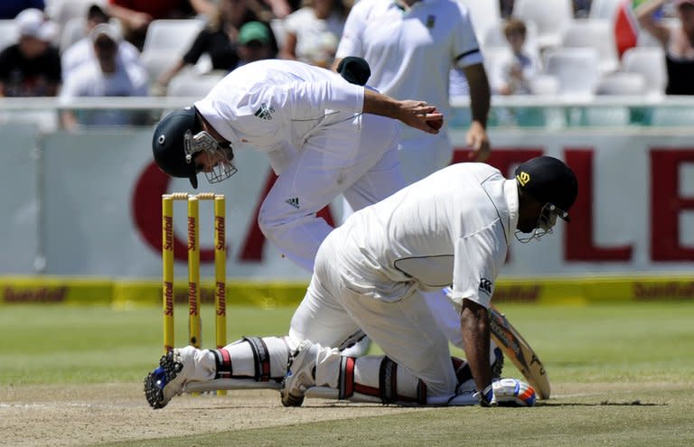
[[189,178],[193,188],[198,172],[210,182],[236,172],[234,147],[265,152],[278,178],[260,208],[259,227],[313,271],[315,253],[333,229],[318,210],[341,193],[361,210],[404,186],[396,120],[436,134],[428,122],[443,116],[423,101],[395,100],[330,70],[257,61],[230,72],[194,107],[165,116],[152,145],[159,167]]

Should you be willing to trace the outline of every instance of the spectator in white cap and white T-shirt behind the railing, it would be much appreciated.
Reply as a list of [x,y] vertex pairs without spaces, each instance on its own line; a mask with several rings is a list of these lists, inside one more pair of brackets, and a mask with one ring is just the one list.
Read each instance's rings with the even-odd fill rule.
[[[70,71],[61,89],[61,103],[79,97],[142,97],[147,96],[149,79],[138,63],[125,61],[118,55],[120,33],[109,23],[98,24],[89,39],[96,58]],[[75,129],[83,126],[127,126],[137,124],[138,114],[123,110],[89,110],[75,113],[63,110],[62,124]]]

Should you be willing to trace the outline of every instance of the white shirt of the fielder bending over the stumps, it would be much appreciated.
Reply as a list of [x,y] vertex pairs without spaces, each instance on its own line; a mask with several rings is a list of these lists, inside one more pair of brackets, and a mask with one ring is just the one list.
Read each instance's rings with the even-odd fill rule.
[[265,60],[231,71],[195,107],[232,147],[275,152],[286,144],[300,150],[324,126],[361,113],[363,103],[364,88],[331,70]]

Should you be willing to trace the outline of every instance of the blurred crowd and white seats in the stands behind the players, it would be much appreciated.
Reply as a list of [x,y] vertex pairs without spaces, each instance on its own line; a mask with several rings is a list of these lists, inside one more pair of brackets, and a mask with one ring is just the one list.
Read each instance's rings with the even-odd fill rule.
[[[594,65],[593,72],[581,74],[595,78],[587,87],[591,94],[647,94],[653,89],[692,93],[673,90],[667,77],[675,69],[683,79],[694,74],[694,69],[688,71],[689,65],[694,66],[694,39],[688,37],[694,36],[694,1],[626,2],[634,6],[629,13],[635,32],[652,36],[650,44],[634,46],[662,52],[661,61],[654,64],[661,67],[659,72],[625,65],[626,54],[614,41],[614,17],[622,1],[483,1],[498,1],[498,7],[494,5],[498,17],[492,21],[488,17],[476,20],[480,17],[470,6],[492,94],[574,91],[576,85],[567,87],[572,81],[563,72],[572,71],[571,64],[560,62],[556,68],[551,56],[556,53],[558,61],[563,61],[566,51],[558,50],[585,50],[581,47],[595,52],[593,59],[585,60]],[[538,7],[543,1],[551,7]],[[0,96],[57,96],[66,104],[78,97],[202,96],[225,73],[250,61],[291,59],[329,69],[351,2],[6,0],[0,5]],[[605,9],[608,3],[614,7]],[[563,5],[568,5],[566,14],[558,7]],[[609,13],[598,12],[598,7]],[[553,14],[550,20],[539,14],[544,9],[545,14]],[[610,34],[607,45],[600,34],[605,30]],[[578,37],[571,38],[572,33]],[[679,65],[672,69],[673,64]],[[454,79],[454,75],[452,94],[464,94],[464,78]],[[633,91],[624,87],[630,85]],[[133,114],[108,111],[65,111],[61,126],[124,124],[136,119]]]

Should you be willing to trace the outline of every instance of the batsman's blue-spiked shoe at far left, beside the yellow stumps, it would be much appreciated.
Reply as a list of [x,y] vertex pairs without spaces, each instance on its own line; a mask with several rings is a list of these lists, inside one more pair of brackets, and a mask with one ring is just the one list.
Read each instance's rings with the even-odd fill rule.
[[145,377],[145,398],[152,408],[164,408],[174,396],[182,393],[186,377],[195,368],[194,357],[195,348],[186,346],[170,350],[159,359],[159,368]]

